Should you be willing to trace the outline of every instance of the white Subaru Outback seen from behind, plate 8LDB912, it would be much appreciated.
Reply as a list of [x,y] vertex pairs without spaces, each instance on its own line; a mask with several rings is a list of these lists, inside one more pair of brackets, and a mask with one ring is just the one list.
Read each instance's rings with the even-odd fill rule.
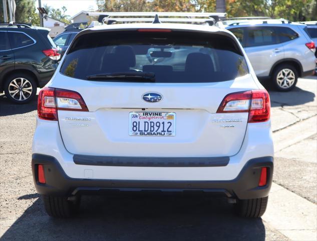
[[259,217],[273,174],[269,95],[225,29],[93,27],[41,90],[32,149],[54,217],[107,190],[211,192]]

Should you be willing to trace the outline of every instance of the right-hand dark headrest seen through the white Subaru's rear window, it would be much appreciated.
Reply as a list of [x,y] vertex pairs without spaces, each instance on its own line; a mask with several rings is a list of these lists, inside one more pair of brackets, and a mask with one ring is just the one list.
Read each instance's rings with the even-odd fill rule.
[[190,53],[185,63],[186,72],[214,72],[212,59],[208,54]]

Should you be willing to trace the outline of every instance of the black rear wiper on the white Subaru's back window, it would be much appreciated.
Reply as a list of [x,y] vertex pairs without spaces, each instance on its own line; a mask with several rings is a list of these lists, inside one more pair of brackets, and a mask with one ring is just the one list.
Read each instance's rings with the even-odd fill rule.
[[155,81],[155,74],[152,72],[116,72],[88,75],[87,79],[143,79]]

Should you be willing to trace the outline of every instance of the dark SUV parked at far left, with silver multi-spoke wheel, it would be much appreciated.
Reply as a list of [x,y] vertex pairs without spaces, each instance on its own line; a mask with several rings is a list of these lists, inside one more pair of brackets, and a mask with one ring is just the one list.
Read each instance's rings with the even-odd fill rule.
[[15,103],[29,102],[53,76],[60,53],[49,29],[0,24],[0,92]]

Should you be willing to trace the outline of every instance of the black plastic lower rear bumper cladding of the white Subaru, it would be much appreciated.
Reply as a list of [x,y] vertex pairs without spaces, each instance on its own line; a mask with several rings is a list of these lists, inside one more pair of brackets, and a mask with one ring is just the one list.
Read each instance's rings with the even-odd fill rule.
[[[38,181],[37,164],[44,165],[46,184]],[[258,187],[261,167],[268,167],[267,184]],[[227,197],[251,199],[268,196],[272,183],[273,158],[261,157],[249,160],[239,175],[228,181],[158,181],[158,180],[110,180],[81,179],[67,176],[59,162],[52,156],[33,154],[32,171],[35,187],[40,194],[76,195],[99,191],[203,191],[224,194]],[[211,177],[212,179],[212,177]]]

